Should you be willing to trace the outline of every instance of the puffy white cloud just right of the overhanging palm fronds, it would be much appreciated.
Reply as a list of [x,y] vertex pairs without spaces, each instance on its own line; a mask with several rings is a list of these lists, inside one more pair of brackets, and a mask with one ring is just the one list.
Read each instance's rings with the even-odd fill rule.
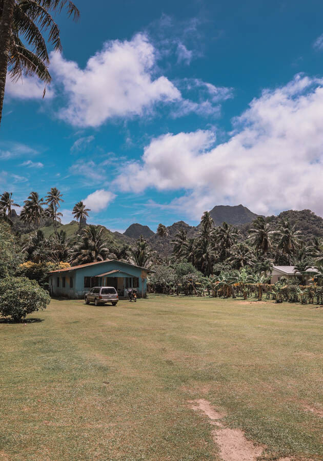
[[154,78],[155,59],[154,47],[143,34],[130,41],[108,41],[85,69],[52,53],[51,70],[68,97],[59,116],[72,125],[98,127],[111,117],[143,115],[158,102],[180,99],[165,76]]

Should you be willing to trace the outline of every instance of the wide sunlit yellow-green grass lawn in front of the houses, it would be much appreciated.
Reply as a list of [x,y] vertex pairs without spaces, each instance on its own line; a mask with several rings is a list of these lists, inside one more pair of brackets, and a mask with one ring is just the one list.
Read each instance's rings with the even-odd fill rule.
[[250,301],[52,300],[0,323],[0,459],[217,460],[205,399],[260,459],[322,460],[323,308]]

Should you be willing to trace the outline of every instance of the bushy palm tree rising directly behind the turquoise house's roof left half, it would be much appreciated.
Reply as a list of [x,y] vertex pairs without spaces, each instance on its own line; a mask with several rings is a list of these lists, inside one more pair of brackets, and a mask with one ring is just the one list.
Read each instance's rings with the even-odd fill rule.
[[104,227],[90,224],[84,229],[80,241],[75,243],[71,249],[71,265],[105,261],[109,256],[107,244]]

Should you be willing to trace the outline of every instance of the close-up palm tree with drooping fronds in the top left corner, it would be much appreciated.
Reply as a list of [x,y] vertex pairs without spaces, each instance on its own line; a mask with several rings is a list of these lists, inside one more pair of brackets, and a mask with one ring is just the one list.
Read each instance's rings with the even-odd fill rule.
[[64,7],[68,16],[79,17],[78,9],[70,0],[1,0],[0,123],[7,70],[13,80],[23,74],[35,74],[45,84],[51,81],[46,40],[42,34],[48,32],[47,39],[54,50],[62,49],[59,28],[50,12],[59,13]]

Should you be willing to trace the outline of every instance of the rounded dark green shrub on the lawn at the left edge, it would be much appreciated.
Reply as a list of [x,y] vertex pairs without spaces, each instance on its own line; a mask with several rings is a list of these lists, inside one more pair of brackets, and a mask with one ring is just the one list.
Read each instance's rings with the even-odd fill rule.
[[6,277],[0,280],[0,315],[15,322],[28,314],[46,309],[48,293],[34,280],[26,277]]

